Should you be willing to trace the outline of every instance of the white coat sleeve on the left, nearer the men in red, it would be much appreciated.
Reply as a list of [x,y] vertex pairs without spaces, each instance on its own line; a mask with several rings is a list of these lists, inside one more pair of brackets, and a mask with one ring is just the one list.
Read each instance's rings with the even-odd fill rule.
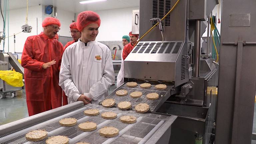
[[69,99],[72,99],[72,101],[76,102],[81,96],[72,80],[67,49],[64,51],[62,56],[59,74],[59,86],[64,90],[66,96],[68,96]]

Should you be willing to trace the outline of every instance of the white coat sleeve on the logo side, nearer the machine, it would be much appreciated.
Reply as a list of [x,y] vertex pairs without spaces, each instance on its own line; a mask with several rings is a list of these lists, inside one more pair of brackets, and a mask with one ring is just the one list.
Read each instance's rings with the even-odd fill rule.
[[86,93],[87,96],[91,97],[93,100],[97,100],[100,95],[107,92],[108,88],[115,82],[115,73],[111,58],[111,51],[108,49],[106,53],[103,76],[101,80],[92,85],[89,93]]

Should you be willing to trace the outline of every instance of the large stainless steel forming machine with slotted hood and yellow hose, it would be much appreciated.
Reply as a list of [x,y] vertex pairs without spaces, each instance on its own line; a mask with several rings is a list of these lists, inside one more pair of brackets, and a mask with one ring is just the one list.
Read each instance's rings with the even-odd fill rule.
[[[149,20],[164,17],[175,3],[140,0],[140,36],[157,23]],[[218,65],[200,57],[200,38],[216,4],[216,0],[180,0],[160,28],[157,25],[145,35],[124,61],[125,82],[170,86],[152,111],[178,116],[170,143],[208,144],[214,133]]]

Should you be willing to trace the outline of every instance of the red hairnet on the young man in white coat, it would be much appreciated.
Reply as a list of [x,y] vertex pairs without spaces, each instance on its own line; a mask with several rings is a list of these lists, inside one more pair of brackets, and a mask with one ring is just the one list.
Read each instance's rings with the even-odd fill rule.
[[76,26],[79,31],[91,23],[97,23],[100,26],[100,16],[93,11],[83,11],[77,15]]

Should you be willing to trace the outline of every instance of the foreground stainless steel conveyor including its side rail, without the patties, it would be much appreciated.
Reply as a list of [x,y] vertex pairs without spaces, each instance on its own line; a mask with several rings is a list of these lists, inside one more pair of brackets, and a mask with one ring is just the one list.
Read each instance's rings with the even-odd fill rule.
[[[106,120],[97,116],[85,116],[84,110],[96,108],[100,113],[111,111],[117,113],[117,118]],[[133,115],[137,118],[136,123],[124,124],[119,118],[123,115]],[[59,120],[62,118],[73,117],[77,119],[77,124],[72,127],[62,127]],[[118,108],[104,108],[100,105],[83,105],[83,102],[75,102],[53,110],[49,110],[28,118],[24,118],[9,124],[0,126],[1,144],[29,144],[45,143],[48,137],[63,135],[69,138],[69,144],[77,142],[88,142],[91,144],[165,144],[171,133],[171,124],[177,116],[165,116],[159,114],[141,114],[134,111],[122,111]],[[79,130],[78,124],[86,121],[97,123],[94,131],[83,132]],[[106,138],[100,136],[98,130],[105,126],[113,126],[119,129],[119,135]],[[25,135],[31,130],[44,129],[48,132],[47,138],[38,142],[29,142]]]

